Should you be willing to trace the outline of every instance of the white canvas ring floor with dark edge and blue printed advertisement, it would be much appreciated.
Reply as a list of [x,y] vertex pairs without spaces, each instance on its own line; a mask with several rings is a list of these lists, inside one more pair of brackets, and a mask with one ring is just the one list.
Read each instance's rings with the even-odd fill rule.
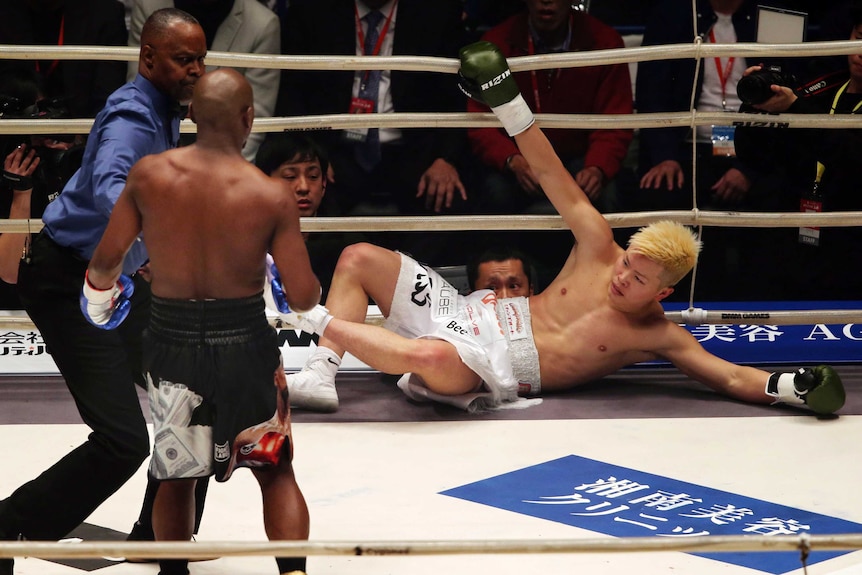
[[[729,400],[664,368],[627,370],[577,391],[549,396],[538,406],[479,415],[410,403],[394,380],[373,372],[342,373],[337,413],[295,410],[293,414],[295,466],[311,512],[311,538],[367,542],[597,539],[621,533],[661,536],[648,525],[660,519],[658,507],[652,508],[650,519],[639,521],[601,519],[602,513],[587,513],[584,506],[575,509],[573,505],[559,516],[562,519],[543,516],[553,507],[549,505],[524,511],[525,501],[547,503],[568,495],[571,504],[573,493],[594,496],[596,490],[578,491],[584,483],[578,473],[587,464],[593,466],[584,471],[588,482],[622,479],[620,473],[625,473],[627,479],[642,484],[640,495],[675,489],[677,494],[685,490],[697,496],[698,503],[687,507],[690,512],[697,510],[686,515],[689,518],[702,518],[705,510],[735,509],[738,513],[725,513],[723,522],[716,521],[718,515],[713,513],[711,524],[748,525],[740,534],[783,533],[762,528],[763,520],[774,527],[778,519],[791,528],[788,533],[862,533],[862,490],[857,486],[862,464],[856,459],[862,437],[862,367],[839,370],[848,391],[847,405],[838,417],[822,419],[790,408]],[[4,462],[0,496],[37,475],[87,435],[62,380],[54,376],[0,378],[0,423],[0,461]],[[646,480],[655,483],[652,491],[643,487]],[[74,535],[88,541],[124,539],[137,516],[144,484],[141,468]],[[708,499],[716,494],[724,499]],[[628,497],[630,503],[633,499]],[[763,506],[762,511],[758,506]],[[541,510],[533,513],[534,508]],[[559,509],[556,506],[553,511]],[[569,521],[575,516],[595,523]],[[761,527],[751,527],[757,519]],[[628,531],[615,531],[623,522]],[[672,536],[670,531],[663,535]],[[259,492],[250,473],[240,471],[229,482],[211,486],[198,540],[265,540]],[[310,575],[803,573],[797,555],[315,556],[309,558],[308,571]],[[19,558],[15,573],[86,571],[155,575],[158,569],[154,564],[102,559],[63,564]],[[271,558],[237,557],[197,562],[191,572],[275,574],[276,567]],[[828,557],[814,553],[807,573],[862,574],[862,552]]]

